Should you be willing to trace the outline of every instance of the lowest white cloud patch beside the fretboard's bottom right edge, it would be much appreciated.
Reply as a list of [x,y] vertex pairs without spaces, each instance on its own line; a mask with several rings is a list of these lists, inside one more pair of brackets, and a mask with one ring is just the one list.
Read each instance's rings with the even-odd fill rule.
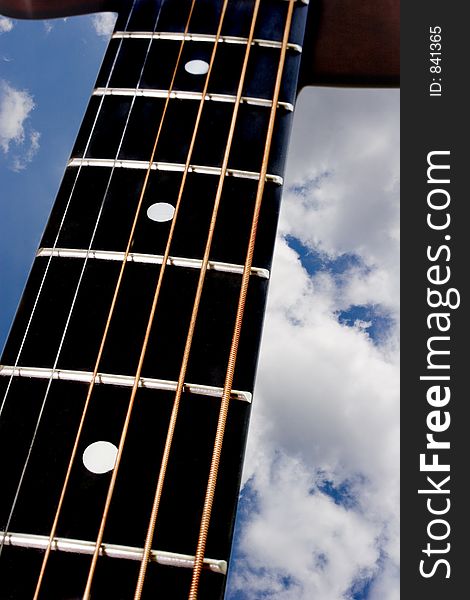
[[303,461],[278,456],[264,475],[269,493],[261,494],[259,513],[241,540],[249,568],[239,564],[235,581],[247,598],[339,600],[352,582],[376,571],[376,528],[325,495],[309,493],[312,475]]

